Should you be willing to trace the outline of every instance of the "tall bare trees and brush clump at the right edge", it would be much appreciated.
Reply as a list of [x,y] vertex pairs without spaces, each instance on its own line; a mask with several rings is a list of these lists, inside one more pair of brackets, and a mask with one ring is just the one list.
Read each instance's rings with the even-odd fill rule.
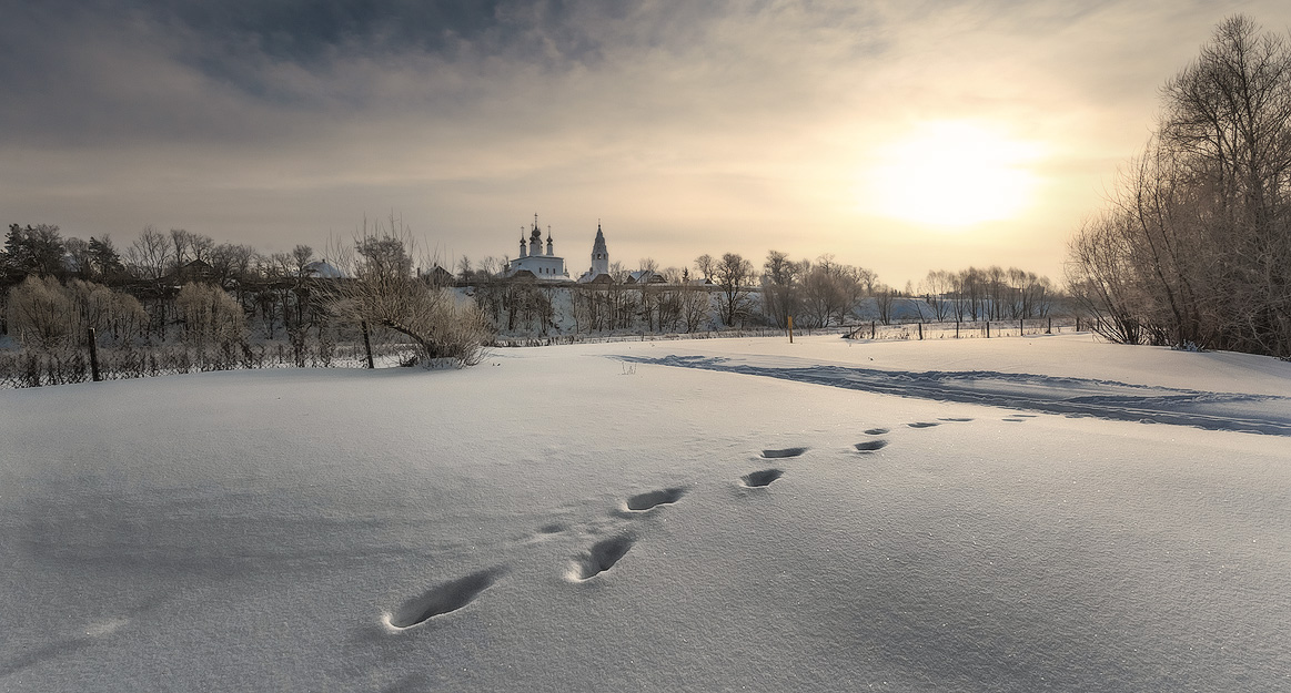
[[1224,21],[1069,257],[1118,342],[1291,357],[1291,37]]

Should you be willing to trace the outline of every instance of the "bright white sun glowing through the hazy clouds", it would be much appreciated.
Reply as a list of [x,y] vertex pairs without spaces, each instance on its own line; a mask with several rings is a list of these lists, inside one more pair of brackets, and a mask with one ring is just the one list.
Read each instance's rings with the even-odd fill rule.
[[878,150],[866,206],[884,217],[962,228],[1019,216],[1032,200],[1034,145],[968,121],[936,121]]

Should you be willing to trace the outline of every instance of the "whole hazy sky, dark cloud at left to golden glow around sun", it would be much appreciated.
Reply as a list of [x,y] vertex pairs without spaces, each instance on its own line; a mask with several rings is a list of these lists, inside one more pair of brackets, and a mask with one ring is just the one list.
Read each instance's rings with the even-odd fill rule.
[[0,212],[262,252],[833,253],[1053,279],[1215,25],[1291,3],[0,0]]

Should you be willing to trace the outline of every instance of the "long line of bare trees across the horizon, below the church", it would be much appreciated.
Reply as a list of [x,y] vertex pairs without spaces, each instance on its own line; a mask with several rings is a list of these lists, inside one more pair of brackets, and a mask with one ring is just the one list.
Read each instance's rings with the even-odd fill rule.
[[[803,328],[875,319],[1039,317],[1056,292],[1017,268],[932,271],[904,290],[825,254],[771,250],[760,270],[738,253],[702,254],[687,267],[622,263],[593,284],[503,277],[498,263],[462,258],[454,277],[418,268],[411,231],[395,216],[364,221],[351,241],[262,254],[186,230],[146,227],[119,248],[110,236],[63,237],[57,226],[12,225],[0,253],[0,334],[52,351],[81,343],[177,345],[182,359],[235,368],[265,363],[285,343],[297,365],[327,364],[334,347],[385,334],[421,359],[470,363],[494,333],[693,333]],[[426,265],[422,261],[422,265]],[[913,311],[913,312],[911,312]],[[281,347],[279,347],[281,350]],[[306,351],[312,350],[312,359]],[[154,368],[156,370],[156,368]]]

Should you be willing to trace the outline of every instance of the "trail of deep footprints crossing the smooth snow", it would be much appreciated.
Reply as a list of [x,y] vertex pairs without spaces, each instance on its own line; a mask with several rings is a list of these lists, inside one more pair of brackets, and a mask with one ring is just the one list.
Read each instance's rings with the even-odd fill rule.
[[[1020,422],[1026,418],[1033,418],[1035,414],[1015,414],[1003,421]],[[941,418],[937,421],[917,421],[906,423],[910,428],[931,428],[933,426],[940,426],[942,422],[968,422],[971,418]],[[886,437],[878,437],[889,434],[889,428],[869,428],[865,435],[870,436],[869,440],[862,440],[856,443],[853,447],[861,454],[870,454],[886,448],[889,441]],[[778,448],[778,449],[764,449],[762,450],[763,459],[791,459],[795,457],[802,457],[809,448]],[[769,467],[764,470],[751,471],[740,477],[740,485],[746,489],[763,489],[769,487],[776,480],[785,475],[785,470],[778,467]],[[629,496],[624,501],[624,507],[626,511],[620,508],[620,512],[615,514],[617,517],[626,517],[631,520],[635,516],[647,515],[661,506],[670,506],[679,502],[687,493],[684,487],[671,487],[657,490],[649,490],[646,493],[638,493],[635,496]],[[569,529],[565,523],[549,523],[537,529],[541,536],[560,534]],[[565,577],[571,582],[586,582],[596,578],[602,573],[612,569],[636,543],[636,533],[631,529],[618,529],[613,532],[609,537],[594,542],[585,551],[576,555],[565,572]],[[425,592],[413,596],[400,604],[394,612],[387,614],[387,625],[396,631],[416,627],[425,623],[435,617],[456,612],[471,601],[474,601],[482,592],[492,587],[498,579],[506,576],[507,568],[505,565],[479,570],[465,577],[443,582],[436,585]]]

